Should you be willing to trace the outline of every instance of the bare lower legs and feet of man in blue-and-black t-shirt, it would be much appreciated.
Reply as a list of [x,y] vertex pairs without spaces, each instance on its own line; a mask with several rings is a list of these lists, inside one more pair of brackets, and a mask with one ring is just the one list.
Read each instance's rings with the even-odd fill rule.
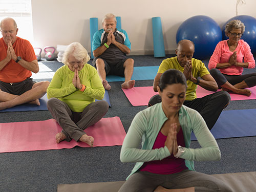
[[[134,60],[129,58],[126,59],[123,63],[124,68],[124,82],[121,84],[121,87],[123,89],[131,89],[135,85],[135,80],[131,80],[133,75],[133,66],[134,66]],[[111,86],[106,80],[106,71],[105,71],[105,63],[101,58],[98,58],[96,60],[96,68],[99,74],[99,77],[102,80],[103,87],[105,90],[110,90]]]

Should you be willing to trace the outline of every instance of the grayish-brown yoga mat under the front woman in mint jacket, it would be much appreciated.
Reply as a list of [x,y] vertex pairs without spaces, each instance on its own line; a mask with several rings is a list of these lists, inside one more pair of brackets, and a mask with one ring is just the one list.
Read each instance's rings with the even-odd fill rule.
[[[256,188],[256,172],[243,172],[231,174],[212,175],[225,182],[233,191],[252,192]],[[125,181],[100,182],[100,183],[79,183],[79,184],[61,184],[58,185],[58,192],[117,192]],[[173,191],[186,191],[176,189]]]

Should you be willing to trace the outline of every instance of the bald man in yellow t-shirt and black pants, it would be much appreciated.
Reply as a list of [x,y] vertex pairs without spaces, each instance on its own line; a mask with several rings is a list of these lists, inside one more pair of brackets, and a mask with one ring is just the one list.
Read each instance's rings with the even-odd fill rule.
[[[181,71],[187,79],[184,105],[197,110],[204,118],[209,130],[211,130],[222,110],[230,102],[230,95],[226,91],[220,91],[202,98],[197,98],[196,89],[198,85],[209,91],[217,91],[218,86],[215,79],[204,66],[204,63],[193,58],[194,52],[195,45],[192,41],[186,39],[179,41],[176,49],[177,56],[162,61],[154,79],[153,88],[157,92],[159,79],[166,70],[177,69]],[[161,97],[155,95],[148,102],[148,106],[152,106],[158,102],[161,102]]]

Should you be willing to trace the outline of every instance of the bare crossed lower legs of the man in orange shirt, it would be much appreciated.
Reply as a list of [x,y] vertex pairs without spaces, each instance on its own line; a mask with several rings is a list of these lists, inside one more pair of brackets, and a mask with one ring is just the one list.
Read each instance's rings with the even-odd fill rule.
[[13,95],[0,89],[0,110],[12,108],[13,106],[31,103],[40,105],[39,98],[46,94],[49,81],[41,81],[33,84],[32,89],[22,95]]

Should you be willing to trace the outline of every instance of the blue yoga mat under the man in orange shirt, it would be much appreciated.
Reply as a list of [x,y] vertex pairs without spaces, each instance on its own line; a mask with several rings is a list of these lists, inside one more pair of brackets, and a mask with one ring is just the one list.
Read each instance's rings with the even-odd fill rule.
[[[109,103],[109,106],[111,107],[110,104],[110,98],[109,98],[109,92],[105,91],[104,98],[102,100],[105,100],[106,102]],[[5,109],[0,112],[18,112],[18,111],[44,111],[48,110],[47,109],[47,94],[45,94],[42,98],[39,99],[40,101],[40,106],[37,106],[35,104],[21,104],[14,106],[13,108]],[[97,101],[97,99],[95,99]]]

